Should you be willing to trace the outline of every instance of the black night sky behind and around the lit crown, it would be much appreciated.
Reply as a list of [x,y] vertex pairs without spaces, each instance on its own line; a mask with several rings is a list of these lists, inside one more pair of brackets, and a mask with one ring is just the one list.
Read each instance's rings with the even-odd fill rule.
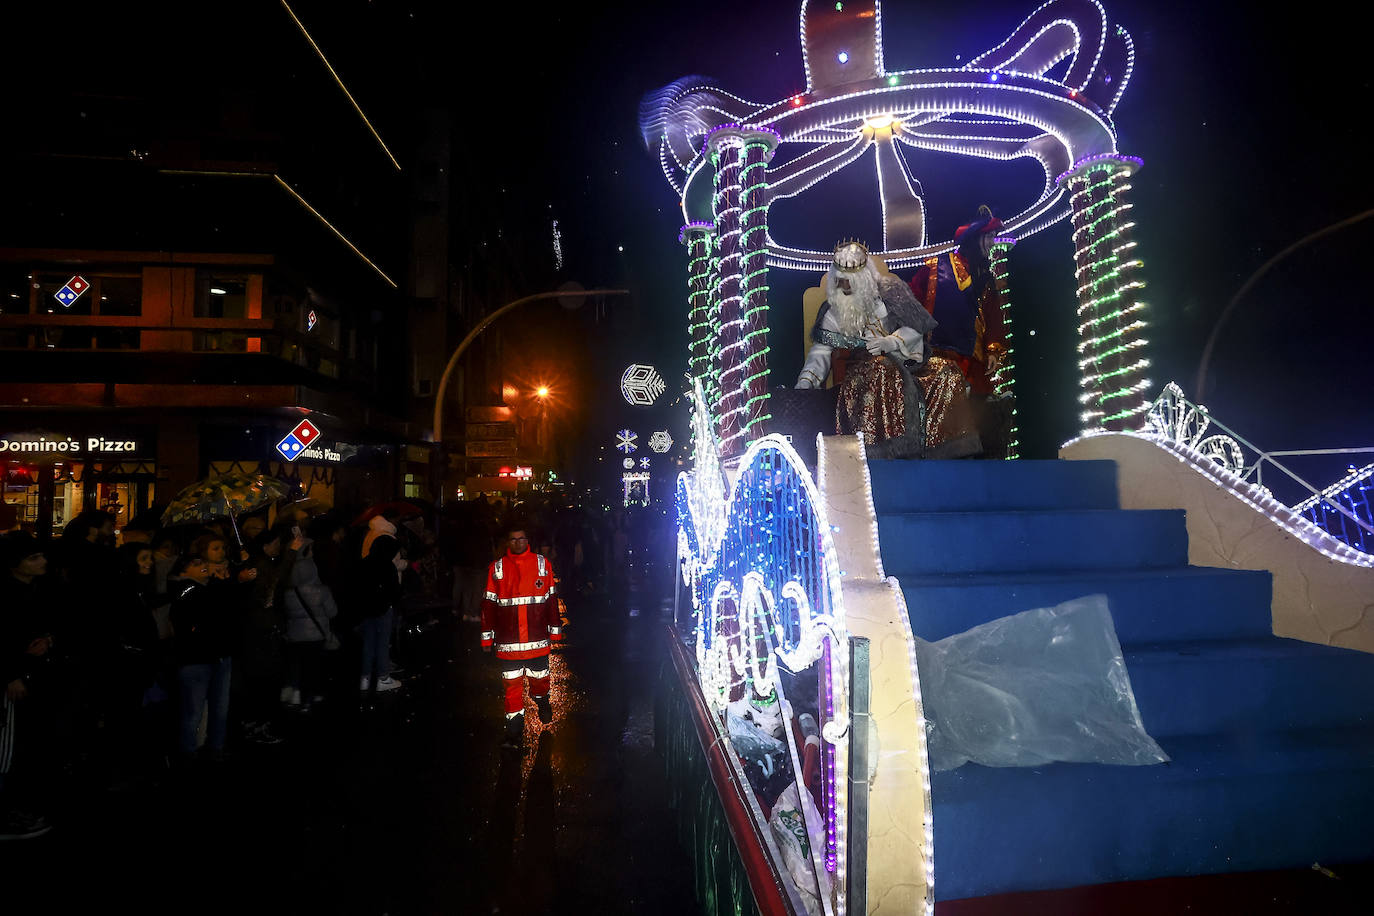
[[[1206,335],[1254,269],[1304,235],[1374,206],[1358,140],[1371,100],[1362,62],[1369,14],[1353,4],[1305,14],[1234,3],[1105,5],[1136,48],[1114,122],[1121,151],[1146,163],[1134,180],[1134,216],[1151,306],[1151,379],[1156,389],[1178,380],[1197,397]],[[455,235],[469,251],[482,242],[504,246],[502,269],[513,275],[513,290],[534,293],[567,279],[632,290],[602,312],[551,309],[533,330],[508,335],[506,346],[521,372],[566,379],[565,435],[587,437],[574,452],[595,452],[627,424],[647,438],[665,420],[624,405],[616,385],[631,361],[654,363],[671,382],[680,378],[686,258],[676,195],[639,137],[639,102],[687,74],[757,102],[804,89],[800,4],[701,0],[545,11],[543,4],[297,0],[293,7],[396,146],[414,140],[416,113],[426,107],[455,114]],[[139,7],[100,8],[106,16],[136,16]],[[889,0],[886,63],[958,65],[1002,41],[1033,8],[1030,0]],[[243,36],[234,38],[242,56],[221,66],[245,74],[268,67],[308,74],[320,66],[290,37],[295,26],[279,3],[196,10],[194,19],[148,26],[166,32],[166,47],[183,48],[172,66],[135,55],[121,62],[117,47],[106,48],[115,62],[111,82],[176,80],[179,69],[196,66],[194,36],[213,33],[228,16]],[[256,32],[276,36],[273,59],[262,59]],[[99,36],[81,34],[100,44]],[[27,62],[37,71],[29,80],[54,73],[60,62],[48,49],[60,38],[11,29],[8,59]],[[7,91],[22,85],[11,81]],[[932,236],[947,238],[980,203],[1015,213],[1040,187],[1039,166],[1028,161],[905,152],[925,185]],[[348,155],[379,154],[363,143]],[[375,163],[359,165],[370,173]],[[551,264],[551,218],[563,233],[561,272]],[[809,196],[780,203],[771,224],[775,236],[813,247],[849,235],[879,239],[871,157]],[[359,232],[365,238],[365,227]],[[1371,238],[1374,220],[1304,249],[1256,286],[1221,334],[1201,400],[1261,448],[1374,444],[1364,391],[1369,293],[1359,269]],[[459,269],[469,266],[464,257],[455,255]],[[1050,457],[1077,428],[1068,221],[1022,242],[1011,271],[1024,453]],[[769,282],[774,385],[791,385],[802,350],[801,293],[815,277],[775,269]],[[584,346],[569,346],[570,334]],[[683,426],[680,407],[672,417]],[[1308,472],[1322,485],[1341,467]]]

